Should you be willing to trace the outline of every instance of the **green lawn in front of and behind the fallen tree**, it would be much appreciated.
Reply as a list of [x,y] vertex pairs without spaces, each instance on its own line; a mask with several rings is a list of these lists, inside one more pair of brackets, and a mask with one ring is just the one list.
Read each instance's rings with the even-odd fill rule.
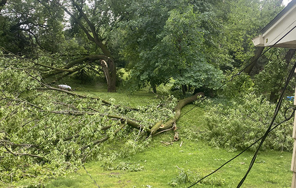
[[[75,87],[74,87],[75,88]],[[121,103],[132,107],[147,105],[157,101],[152,93],[143,90],[130,96],[127,92],[107,93],[102,86],[84,86],[78,89],[80,93],[91,93],[105,100],[114,99],[114,103]],[[111,100],[113,100],[111,99]],[[186,112],[193,105],[188,105],[182,112]],[[238,152],[227,152],[224,149],[213,148],[198,139],[198,132],[205,129],[203,125],[204,109],[195,108],[177,122],[180,140],[173,145],[170,142],[173,132],[156,135],[149,146],[140,153],[119,159],[116,163],[140,164],[142,171],[104,170],[102,162],[92,161],[85,164],[91,177],[101,188],[107,187],[173,187],[170,182],[179,175],[180,169],[190,170],[200,177],[211,173],[224,162],[233,158]],[[180,144],[182,146],[180,147]],[[193,187],[236,187],[244,176],[252,152],[246,152],[236,160],[224,166],[217,173],[208,177],[204,183]],[[256,163],[249,173],[242,187],[290,187],[292,173],[290,171],[291,153],[280,151],[260,152]],[[192,183],[177,185],[188,187]],[[46,187],[97,187],[83,167],[77,172],[49,181]]]

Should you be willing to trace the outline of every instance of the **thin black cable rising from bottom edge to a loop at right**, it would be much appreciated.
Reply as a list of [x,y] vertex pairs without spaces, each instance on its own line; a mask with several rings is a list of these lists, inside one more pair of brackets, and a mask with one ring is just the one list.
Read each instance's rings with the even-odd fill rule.
[[[291,115],[287,118],[286,117],[286,113],[289,109],[293,109],[293,112],[291,113]],[[289,107],[285,110],[285,120],[283,120],[282,122],[280,122],[279,124],[275,125],[269,132],[273,131],[273,129],[277,128],[279,125],[281,125],[282,123],[289,121],[295,114],[295,110],[296,108],[293,107]],[[222,168],[223,166],[225,166],[227,163],[233,161],[234,159],[236,159],[237,157],[239,157],[240,155],[242,155],[245,151],[247,151],[249,148],[251,148],[252,146],[254,146],[257,142],[259,142],[260,139],[262,139],[264,136],[261,136],[259,139],[257,139],[253,144],[251,144],[249,147],[247,147],[246,149],[244,149],[241,153],[239,153],[238,155],[236,155],[234,158],[232,158],[231,160],[228,160],[227,162],[225,162],[224,164],[222,164],[219,168],[217,168],[216,170],[214,170],[213,172],[211,172],[210,174],[204,176],[203,178],[201,178],[200,180],[198,180],[197,182],[195,182],[194,184],[188,186],[187,188],[201,182],[203,179],[207,178],[208,176],[212,175],[213,173],[217,172],[218,170],[220,170],[220,168]]]

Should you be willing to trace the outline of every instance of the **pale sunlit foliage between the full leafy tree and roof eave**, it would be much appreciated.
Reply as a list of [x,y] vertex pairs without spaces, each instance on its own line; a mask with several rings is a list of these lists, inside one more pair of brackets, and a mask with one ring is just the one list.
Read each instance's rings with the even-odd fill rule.
[[221,48],[232,57],[231,62],[222,63],[222,68],[232,70],[241,67],[253,56],[254,45],[251,39],[283,8],[277,0],[224,1],[219,6],[217,14],[223,21],[219,36],[224,41],[220,43]]

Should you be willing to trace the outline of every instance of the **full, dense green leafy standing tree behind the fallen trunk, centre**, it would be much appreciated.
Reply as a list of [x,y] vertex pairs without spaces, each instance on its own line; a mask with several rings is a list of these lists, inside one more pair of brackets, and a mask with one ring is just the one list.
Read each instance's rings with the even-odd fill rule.
[[202,23],[208,13],[194,5],[183,0],[143,2],[130,11],[135,17],[127,22],[122,54],[130,62],[136,89],[146,84],[155,88],[171,78],[182,85],[183,92],[186,85],[218,86],[221,72],[207,58],[204,42],[208,31]]

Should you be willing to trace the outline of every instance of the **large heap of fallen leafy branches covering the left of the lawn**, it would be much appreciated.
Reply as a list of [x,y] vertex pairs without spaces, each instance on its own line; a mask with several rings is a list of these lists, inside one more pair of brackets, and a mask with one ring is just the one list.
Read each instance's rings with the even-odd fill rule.
[[[153,125],[174,117],[171,97],[134,109],[53,90],[25,59],[2,57],[0,67],[0,185],[39,185],[89,159],[112,162],[146,146]],[[121,149],[104,150],[112,145]]]

